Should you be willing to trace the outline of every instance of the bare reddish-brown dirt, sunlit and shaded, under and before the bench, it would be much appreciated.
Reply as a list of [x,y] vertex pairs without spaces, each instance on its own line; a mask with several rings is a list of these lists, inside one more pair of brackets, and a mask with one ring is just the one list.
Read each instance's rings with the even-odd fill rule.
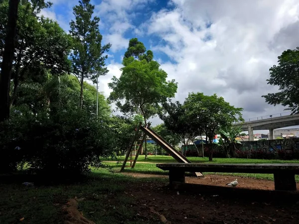
[[[168,176],[124,173],[134,177]],[[298,224],[299,191],[280,199],[269,196],[274,182],[237,177],[236,190],[227,192],[232,176],[206,175],[202,179],[186,177],[186,182],[203,186],[198,191],[171,190],[157,182],[134,185],[126,192],[135,198],[135,210],[145,219],[168,224]],[[203,189],[221,186],[206,193]],[[248,189],[245,189],[248,188]],[[299,189],[299,185],[297,184]],[[264,191],[261,191],[264,190]],[[236,192],[235,192],[236,191]],[[238,192],[240,191],[240,192]],[[257,194],[255,193],[257,191]],[[149,217],[150,216],[150,217]]]

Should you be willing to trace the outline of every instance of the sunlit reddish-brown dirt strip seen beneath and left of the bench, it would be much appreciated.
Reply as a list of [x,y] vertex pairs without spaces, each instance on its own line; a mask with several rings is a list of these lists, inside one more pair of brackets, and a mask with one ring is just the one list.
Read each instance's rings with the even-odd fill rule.
[[[143,174],[143,173],[126,173],[123,174],[142,178],[142,177],[160,177],[167,178],[166,175]],[[226,186],[227,183],[237,179],[238,188],[259,189],[259,190],[274,190],[274,181],[260,180],[246,177],[223,176],[223,175],[204,175],[203,178],[185,177],[185,182],[190,184],[203,184],[211,186]],[[299,191],[299,183],[297,183],[297,191]]]

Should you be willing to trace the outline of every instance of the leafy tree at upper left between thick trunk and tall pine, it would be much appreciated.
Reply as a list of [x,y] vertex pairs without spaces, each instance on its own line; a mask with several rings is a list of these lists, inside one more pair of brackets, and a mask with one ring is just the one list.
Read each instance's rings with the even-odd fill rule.
[[[6,3],[3,1],[0,4],[0,20],[3,22],[7,20],[4,13]],[[68,60],[70,37],[57,22],[43,16],[41,18],[36,16],[36,12],[47,5],[36,6],[37,2],[33,3],[22,0],[18,8],[18,32],[11,73],[13,88],[10,91],[9,108],[13,105],[18,87],[24,80],[39,79],[45,75],[47,69],[50,69],[53,75],[70,71]],[[3,49],[4,37],[5,29],[1,29],[0,50]]]

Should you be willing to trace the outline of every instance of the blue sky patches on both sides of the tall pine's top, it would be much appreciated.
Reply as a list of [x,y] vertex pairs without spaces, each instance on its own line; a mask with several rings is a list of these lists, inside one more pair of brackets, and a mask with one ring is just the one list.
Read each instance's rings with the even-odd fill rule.
[[[78,4],[77,0],[52,0],[53,6],[50,9],[44,10],[46,16],[52,17],[57,20],[60,25],[69,30],[69,22],[74,19],[72,14],[72,7]],[[153,13],[157,13],[160,10],[171,11],[174,8],[174,4],[168,0],[124,0],[125,3],[121,3],[121,0],[91,0],[91,3],[95,5],[94,15],[100,17],[100,31],[104,37],[103,43],[112,42],[112,50],[110,51],[107,64],[111,62],[121,63],[121,57],[124,55],[129,39],[137,37],[142,41],[147,48],[151,45],[157,45],[161,43],[158,36],[144,35],[142,31],[136,29],[143,29],[144,23],[150,19]],[[121,8],[116,7],[113,10],[114,3],[117,3]],[[128,7],[132,5],[133,7]],[[108,7],[109,10],[102,10],[103,7]],[[111,10],[112,9],[112,10]],[[117,15],[119,14],[119,15]],[[111,27],[115,26],[115,29]],[[117,35],[124,39],[120,39],[126,43],[115,43],[115,40],[109,40],[106,38],[108,35]],[[117,41],[119,42],[119,41]],[[121,45],[121,46],[120,46]],[[165,53],[155,52],[155,59],[160,61],[171,61]]]

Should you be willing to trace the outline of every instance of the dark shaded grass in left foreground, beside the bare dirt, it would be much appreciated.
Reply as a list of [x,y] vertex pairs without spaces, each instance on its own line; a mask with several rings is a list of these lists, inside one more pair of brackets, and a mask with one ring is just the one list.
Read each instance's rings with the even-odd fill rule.
[[[68,198],[86,198],[79,211],[97,224],[150,223],[135,216],[130,196],[124,195],[128,185],[137,182],[165,182],[161,178],[133,178],[106,169],[93,170],[84,182],[54,186],[24,186],[21,175],[13,182],[0,176],[0,224],[63,223],[61,206]],[[3,181],[3,180],[6,181]],[[22,222],[19,220],[24,218]]]

